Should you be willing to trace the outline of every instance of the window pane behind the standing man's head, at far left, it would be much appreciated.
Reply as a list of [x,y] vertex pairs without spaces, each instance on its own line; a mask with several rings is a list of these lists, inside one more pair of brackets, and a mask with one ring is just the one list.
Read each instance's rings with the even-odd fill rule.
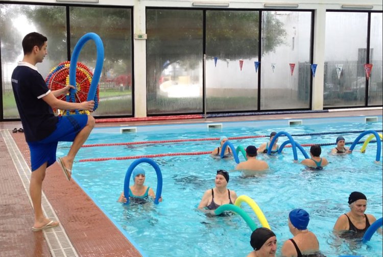
[[2,4],[0,10],[3,115],[4,119],[12,119],[19,118],[11,75],[23,58],[21,41],[34,31],[48,38],[48,55],[36,65],[45,79],[54,66],[67,59],[65,7]]

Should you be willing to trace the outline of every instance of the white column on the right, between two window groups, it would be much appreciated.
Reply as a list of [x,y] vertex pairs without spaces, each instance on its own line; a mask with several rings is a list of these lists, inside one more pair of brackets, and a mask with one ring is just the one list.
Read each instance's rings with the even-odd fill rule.
[[326,34],[326,9],[319,6],[315,11],[314,27],[314,58],[313,63],[318,64],[313,79],[313,110],[323,110],[324,87],[324,51]]

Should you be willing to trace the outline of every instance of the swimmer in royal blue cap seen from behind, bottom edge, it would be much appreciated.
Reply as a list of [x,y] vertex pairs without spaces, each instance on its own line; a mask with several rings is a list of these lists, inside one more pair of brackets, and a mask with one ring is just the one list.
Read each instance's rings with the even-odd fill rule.
[[289,214],[289,229],[293,238],[284,242],[281,253],[284,257],[323,256],[319,253],[319,242],[313,232],[308,231],[310,220],[304,209],[293,209]]

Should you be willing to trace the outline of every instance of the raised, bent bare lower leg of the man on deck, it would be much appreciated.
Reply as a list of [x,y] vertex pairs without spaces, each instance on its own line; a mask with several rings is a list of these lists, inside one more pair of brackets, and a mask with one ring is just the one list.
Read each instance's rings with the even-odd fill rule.
[[88,115],[88,122],[85,127],[77,134],[73,144],[70,147],[68,154],[61,158],[66,169],[71,170],[73,167],[73,161],[75,160],[77,152],[80,150],[90,132],[94,128],[95,120],[93,116]]

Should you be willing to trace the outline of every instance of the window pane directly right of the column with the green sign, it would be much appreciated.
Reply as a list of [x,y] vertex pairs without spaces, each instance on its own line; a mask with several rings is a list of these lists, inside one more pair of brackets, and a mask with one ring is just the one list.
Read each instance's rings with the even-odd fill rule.
[[202,112],[203,12],[148,9],[148,114]]

